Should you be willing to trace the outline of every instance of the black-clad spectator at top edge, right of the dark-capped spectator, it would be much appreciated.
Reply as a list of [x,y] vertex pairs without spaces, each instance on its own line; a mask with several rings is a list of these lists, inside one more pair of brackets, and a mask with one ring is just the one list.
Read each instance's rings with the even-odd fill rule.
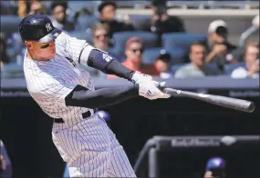
[[151,24],[144,30],[154,32],[159,36],[164,33],[185,32],[182,19],[167,14],[165,1],[152,1],[151,10]]

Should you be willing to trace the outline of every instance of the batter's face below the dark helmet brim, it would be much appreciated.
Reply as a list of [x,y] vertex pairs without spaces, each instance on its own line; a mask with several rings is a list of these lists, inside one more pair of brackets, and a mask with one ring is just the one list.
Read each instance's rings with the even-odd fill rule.
[[27,44],[27,47],[33,53],[34,57],[39,60],[52,59],[56,54],[54,40],[44,44],[32,41],[30,44]]

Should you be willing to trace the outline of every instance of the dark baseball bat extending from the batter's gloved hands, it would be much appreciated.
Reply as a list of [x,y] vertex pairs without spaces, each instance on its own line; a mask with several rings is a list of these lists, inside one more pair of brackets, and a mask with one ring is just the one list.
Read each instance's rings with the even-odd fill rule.
[[252,113],[255,110],[255,104],[253,102],[236,99],[232,97],[213,95],[213,94],[197,94],[193,92],[176,90],[173,88],[162,88],[162,91],[165,94],[170,94],[170,95],[178,94],[182,96],[187,96],[210,104],[216,104],[216,105],[220,105],[223,107],[227,107],[227,108],[231,108],[231,109],[235,109],[247,113]]

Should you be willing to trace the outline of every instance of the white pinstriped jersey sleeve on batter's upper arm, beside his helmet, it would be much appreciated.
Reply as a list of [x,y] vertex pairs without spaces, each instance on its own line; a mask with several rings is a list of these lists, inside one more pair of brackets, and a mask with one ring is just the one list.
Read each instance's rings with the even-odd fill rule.
[[[57,54],[62,54],[63,56],[72,59],[75,63],[84,65],[87,65],[88,54],[90,54],[92,49],[96,49],[88,44],[86,40],[71,37],[64,32],[57,36],[56,46]],[[84,58],[80,57],[83,50],[87,52],[87,55],[85,55]]]

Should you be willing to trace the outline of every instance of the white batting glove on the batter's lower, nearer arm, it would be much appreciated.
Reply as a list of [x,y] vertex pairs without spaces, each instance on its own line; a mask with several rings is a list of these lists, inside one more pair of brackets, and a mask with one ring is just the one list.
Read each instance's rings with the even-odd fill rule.
[[[160,84],[163,86],[163,84]],[[164,94],[158,88],[159,83],[156,81],[144,81],[139,83],[139,95],[150,100],[155,100],[159,98],[169,98],[170,94]]]

